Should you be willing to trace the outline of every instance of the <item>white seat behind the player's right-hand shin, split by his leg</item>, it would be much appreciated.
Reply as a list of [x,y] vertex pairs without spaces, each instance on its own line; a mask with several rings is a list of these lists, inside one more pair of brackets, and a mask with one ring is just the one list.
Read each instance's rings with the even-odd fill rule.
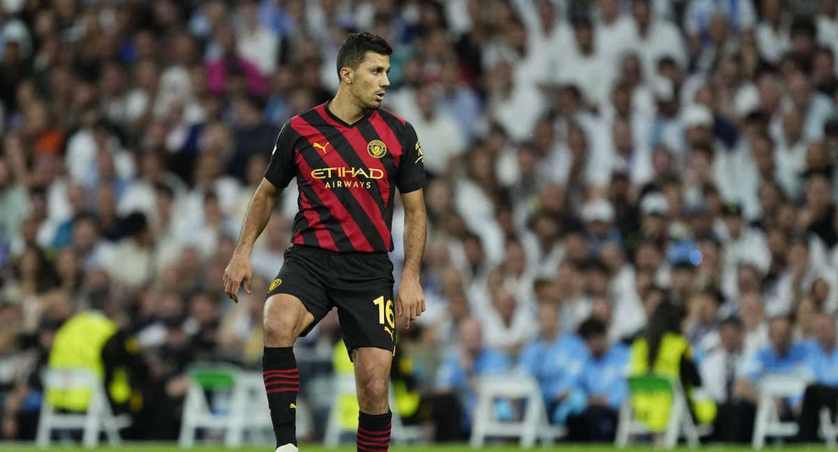
[[[358,398],[355,393],[355,378],[352,374],[334,377],[334,400],[328,413],[326,434],[323,444],[326,447],[338,447],[344,434],[358,433]],[[421,443],[426,439],[422,426],[406,426],[401,422],[398,410],[393,408],[395,400],[393,385],[390,385],[390,403],[393,417],[391,420],[391,442],[393,444]]]

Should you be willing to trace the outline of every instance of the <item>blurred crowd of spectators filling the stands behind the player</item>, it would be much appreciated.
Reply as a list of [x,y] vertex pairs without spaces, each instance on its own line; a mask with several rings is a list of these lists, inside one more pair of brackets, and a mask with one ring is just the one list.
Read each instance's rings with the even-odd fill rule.
[[[700,367],[834,354],[835,0],[8,0],[0,438],[32,434],[37,372],[80,310],[136,337],[167,406],[191,362],[259,367],[293,184],[253,294],[233,304],[221,276],[280,126],[334,95],[351,30],[393,46],[384,107],[426,153],[427,312],[401,347],[465,425],[472,377],[516,363],[548,407],[618,406],[620,344],[660,300]],[[299,346],[330,357],[338,336],[330,316]],[[727,380],[718,402],[747,396]]]

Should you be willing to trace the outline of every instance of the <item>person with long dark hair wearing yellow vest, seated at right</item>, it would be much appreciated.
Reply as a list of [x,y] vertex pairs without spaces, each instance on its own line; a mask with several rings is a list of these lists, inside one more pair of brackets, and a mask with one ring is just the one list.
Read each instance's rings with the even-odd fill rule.
[[[632,343],[629,375],[678,378],[694,419],[699,424],[710,424],[716,419],[716,403],[701,391],[701,374],[693,361],[690,342],[680,332],[683,318],[680,307],[668,301],[655,308],[646,330]],[[658,432],[666,429],[671,394],[633,393],[632,404],[649,429]]]

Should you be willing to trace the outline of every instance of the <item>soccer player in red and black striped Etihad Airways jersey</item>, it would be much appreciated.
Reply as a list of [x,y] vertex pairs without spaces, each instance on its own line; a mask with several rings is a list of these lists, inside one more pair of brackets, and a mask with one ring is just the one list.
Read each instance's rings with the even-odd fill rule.
[[[333,307],[354,362],[360,413],[358,450],[390,445],[390,367],[396,318],[425,311],[419,265],[425,249],[427,180],[416,131],[379,107],[390,81],[392,49],[370,33],[352,33],[338,52],[340,85],[333,100],[293,116],[279,132],[265,177],[247,208],[235,253],[224,274],[237,300],[251,291],[250,254],[277,195],[297,177],[299,211],[292,246],[267,292],[262,369],[276,452],[297,450],[295,402],[299,374],[292,352]],[[393,302],[391,223],[398,188],[405,208],[405,263]]]

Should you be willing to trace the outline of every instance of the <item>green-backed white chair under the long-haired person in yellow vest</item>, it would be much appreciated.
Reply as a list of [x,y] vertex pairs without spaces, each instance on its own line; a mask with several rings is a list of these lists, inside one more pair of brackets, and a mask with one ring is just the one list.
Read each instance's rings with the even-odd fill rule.
[[649,425],[637,419],[637,413],[633,405],[635,396],[648,396],[660,399],[660,403],[670,403],[669,418],[662,432],[660,441],[667,449],[672,449],[678,444],[678,438],[685,436],[690,447],[699,444],[700,431],[692,420],[690,410],[687,406],[687,399],[680,382],[675,379],[659,377],[656,375],[639,375],[629,377],[629,397],[623,402],[620,408],[617,438],[615,445],[619,448],[626,447],[634,434],[655,434],[660,432],[650,429]]

